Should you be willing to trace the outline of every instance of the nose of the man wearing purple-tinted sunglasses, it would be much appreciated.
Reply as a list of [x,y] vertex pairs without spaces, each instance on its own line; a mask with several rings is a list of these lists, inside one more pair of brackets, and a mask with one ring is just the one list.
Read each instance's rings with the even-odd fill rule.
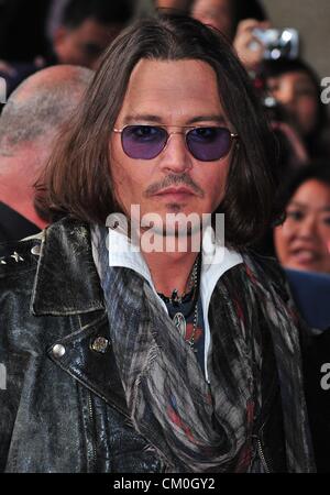
[[193,168],[193,156],[184,133],[170,133],[161,154],[161,167],[166,172],[183,174]]

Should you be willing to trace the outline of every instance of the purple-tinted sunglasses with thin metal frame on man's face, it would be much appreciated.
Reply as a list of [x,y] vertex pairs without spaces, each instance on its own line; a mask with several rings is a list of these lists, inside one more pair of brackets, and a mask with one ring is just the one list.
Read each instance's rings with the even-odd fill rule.
[[122,148],[134,160],[155,158],[165,148],[172,134],[185,134],[186,146],[196,160],[215,162],[228,155],[233,140],[239,138],[229,129],[220,127],[185,125],[182,129],[186,131],[167,132],[163,125],[135,124],[113,129],[113,132],[121,133]]

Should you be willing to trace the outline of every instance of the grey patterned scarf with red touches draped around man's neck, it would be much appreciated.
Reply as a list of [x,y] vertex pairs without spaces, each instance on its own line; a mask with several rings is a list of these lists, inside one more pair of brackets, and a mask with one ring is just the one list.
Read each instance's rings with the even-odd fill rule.
[[[170,472],[251,470],[252,418],[261,400],[262,363],[254,311],[258,305],[257,284],[245,276],[243,290],[250,302],[245,305],[245,318],[240,317],[226,285],[218,283],[216,287],[212,299],[219,297],[217,304],[221,302],[226,324],[221,326],[222,355],[215,360],[212,343],[210,346],[208,384],[195,353],[178,334],[148,283],[129,268],[109,267],[106,235],[107,230],[100,229],[101,285],[134,428],[150,440]],[[261,290],[272,324],[287,324],[287,316],[273,300],[275,296],[271,297],[264,287]],[[284,346],[292,350],[296,343],[292,337],[283,340],[279,333],[276,345],[285,355]],[[299,471],[290,450],[288,457],[293,458],[293,470]]]

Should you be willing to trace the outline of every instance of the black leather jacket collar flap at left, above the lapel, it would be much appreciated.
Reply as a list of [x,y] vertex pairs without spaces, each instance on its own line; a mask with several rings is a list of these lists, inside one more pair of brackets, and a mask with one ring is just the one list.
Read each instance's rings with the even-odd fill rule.
[[31,299],[33,315],[105,309],[88,224],[66,218],[48,227],[42,238],[36,240],[40,252]]

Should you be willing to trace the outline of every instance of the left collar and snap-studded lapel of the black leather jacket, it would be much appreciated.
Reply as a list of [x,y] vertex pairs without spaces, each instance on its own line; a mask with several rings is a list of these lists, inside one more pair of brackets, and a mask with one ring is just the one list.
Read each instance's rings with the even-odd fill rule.
[[89,227],[64,219],[46,229],[42,242],[36,242],[38,264],[31,311],[34,316],[59,317],[58,326],[64,321],[65,328],[65,336],[47,350],[48,356],[127,415]]

